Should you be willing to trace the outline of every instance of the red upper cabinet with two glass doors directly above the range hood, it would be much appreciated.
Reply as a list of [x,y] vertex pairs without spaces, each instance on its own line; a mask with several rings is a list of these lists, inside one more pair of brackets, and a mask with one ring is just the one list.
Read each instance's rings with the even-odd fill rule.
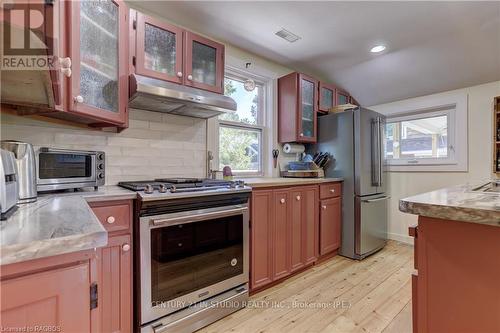
[[224,93],[224,45],[130,10],[136,74]]

